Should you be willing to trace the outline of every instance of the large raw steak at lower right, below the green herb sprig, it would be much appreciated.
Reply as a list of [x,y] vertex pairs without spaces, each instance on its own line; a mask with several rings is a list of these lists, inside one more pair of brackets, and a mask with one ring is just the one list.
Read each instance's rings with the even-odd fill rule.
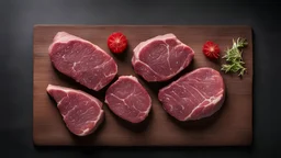
[[198,68],[160,89],[162,108],[179,121],[200,120],[221,109],[225,87],[221,74],[212,68]]

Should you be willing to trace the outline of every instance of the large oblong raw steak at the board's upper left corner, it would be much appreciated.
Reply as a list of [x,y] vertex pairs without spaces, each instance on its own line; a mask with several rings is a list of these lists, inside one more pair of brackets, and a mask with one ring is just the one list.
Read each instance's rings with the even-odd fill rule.
[[99,91],[117,74],[114,59],[99,46],[66,32],[58,32],[49,48],[55,68],[85,87]]

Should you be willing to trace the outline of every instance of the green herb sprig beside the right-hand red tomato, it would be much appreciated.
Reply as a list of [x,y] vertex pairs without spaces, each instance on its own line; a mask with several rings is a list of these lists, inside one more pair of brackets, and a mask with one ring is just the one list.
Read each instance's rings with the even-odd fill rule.
[[233,40],[233,47],[226,49],[226,54],[222,57],[226,59],[226,64],[222,65],[221,70],[225,72],[239,72],[238,76],[243,76],[247,68],[244,67],[243,50],[240,48],[247,46],[248,43],[245,38],[238,37]]

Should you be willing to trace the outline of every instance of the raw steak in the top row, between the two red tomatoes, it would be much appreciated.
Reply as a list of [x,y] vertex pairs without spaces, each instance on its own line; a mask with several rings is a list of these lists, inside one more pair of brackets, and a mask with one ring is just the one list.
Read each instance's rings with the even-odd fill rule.
[[193,57],[193,49],[169,33],[139,43],[132,65],[146,81],[166,81],[188,67]]

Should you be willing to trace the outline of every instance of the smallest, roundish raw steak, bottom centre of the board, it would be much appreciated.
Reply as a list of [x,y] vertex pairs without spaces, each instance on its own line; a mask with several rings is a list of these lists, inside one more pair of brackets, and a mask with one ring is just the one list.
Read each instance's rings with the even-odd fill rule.
[[136,77],[121,76],[106,90],[105,103],[110,110],[131,123],[144,121],[150,109],[151,99]]

